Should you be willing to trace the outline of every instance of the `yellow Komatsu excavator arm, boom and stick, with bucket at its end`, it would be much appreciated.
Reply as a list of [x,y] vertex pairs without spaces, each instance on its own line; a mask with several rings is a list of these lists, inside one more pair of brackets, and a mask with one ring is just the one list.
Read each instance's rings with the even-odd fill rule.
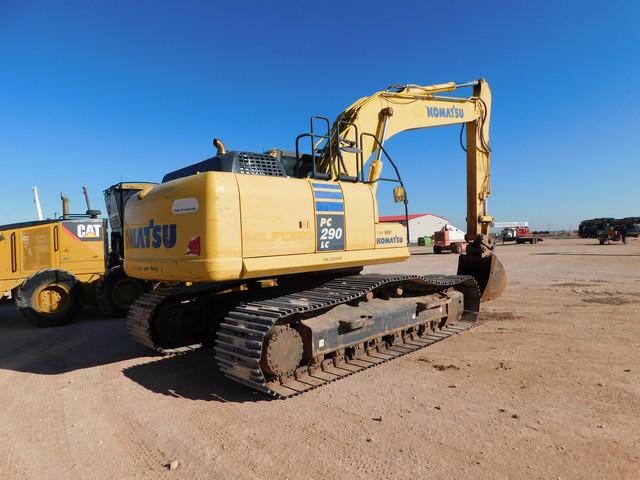
[[[449,96],[473,87],[470,97]],[[489,124],[491,89],[484,79],[430,86],[404,85],[361,98],[342,112],[332,126],[331,148],[325,148],[319,168],[333,178],[358,177],[369,165],[368,181],[375,190],[381,178],[382,147],[392,136],[406,131],[446,125],[464,125],[467,154],[467,241],[460,256],[459,274],[473,275],[483,299],[497,298],[504,289],[504,269],[493,255],[489,235],[493,217],[487,210],[490,190]],[[373,135],[367,135],[372,133]]]

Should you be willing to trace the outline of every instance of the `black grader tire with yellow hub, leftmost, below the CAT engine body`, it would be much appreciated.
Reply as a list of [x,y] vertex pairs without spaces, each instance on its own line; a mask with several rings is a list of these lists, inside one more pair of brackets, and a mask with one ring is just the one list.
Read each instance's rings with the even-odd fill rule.
[[18,287],[15,301],[20,314],[36,327],[59,327],[82,309],[82,285],[69,272],[41,270]]

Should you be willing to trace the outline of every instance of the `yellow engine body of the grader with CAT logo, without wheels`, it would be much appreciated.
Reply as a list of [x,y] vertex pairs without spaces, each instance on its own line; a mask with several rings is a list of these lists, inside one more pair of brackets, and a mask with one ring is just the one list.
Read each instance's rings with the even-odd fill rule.
[[97,280],[106,268],[105,234],[105,222],[89,218],[0,226],[0,296],[48,268]]

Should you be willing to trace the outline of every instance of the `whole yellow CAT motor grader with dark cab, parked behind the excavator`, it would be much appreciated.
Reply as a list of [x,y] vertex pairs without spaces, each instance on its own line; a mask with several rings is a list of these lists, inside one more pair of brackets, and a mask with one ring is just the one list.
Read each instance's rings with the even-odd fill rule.
[[[116,195],[122,199],[141,189],[119,184],[109,192],[115,202]],[[107,221],[91,209],[86,187],[84,194],[85,214],[69,213],[62,195],[61,218],[0,226],[0,298],[13,298],[22,316],[38,327],[68,323],[94,294],[102,313],[124,317],[149,288],[148,282],[124,274],[121,242],[109,253]]]

